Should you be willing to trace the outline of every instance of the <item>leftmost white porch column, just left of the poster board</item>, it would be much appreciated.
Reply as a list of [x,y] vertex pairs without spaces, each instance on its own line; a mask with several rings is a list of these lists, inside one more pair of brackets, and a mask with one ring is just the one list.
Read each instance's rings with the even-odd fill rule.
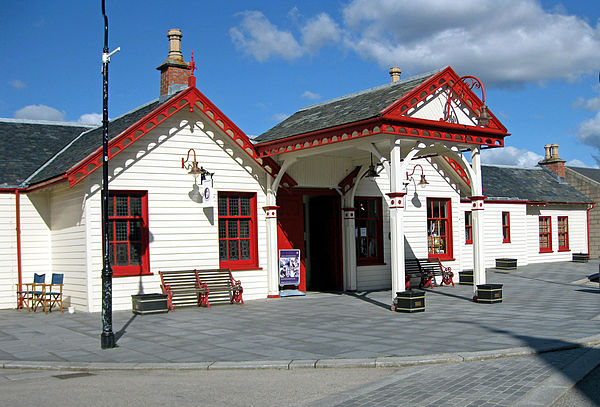
[[267,206],[263,207],[267,222],[267,296],[279,297],[279,251],[277,250],[277,209],[273,179],[267,174]]

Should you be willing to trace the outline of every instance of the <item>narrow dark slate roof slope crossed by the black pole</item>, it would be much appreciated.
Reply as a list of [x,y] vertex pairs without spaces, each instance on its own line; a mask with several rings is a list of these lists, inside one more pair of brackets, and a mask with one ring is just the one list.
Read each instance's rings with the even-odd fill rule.
[[[150,114],[161,102],[158,99],[143,105],[129,113],[110,121],[108,126],[108,137],[113,139],[138,120]],[[82,133],[73,143],[54,159],[50,160],[43,168],[31,178],[30,183],[35,184],[54,178],[67,172],[75,164],[82,161],[98,148],[102,147],[102,126]]]

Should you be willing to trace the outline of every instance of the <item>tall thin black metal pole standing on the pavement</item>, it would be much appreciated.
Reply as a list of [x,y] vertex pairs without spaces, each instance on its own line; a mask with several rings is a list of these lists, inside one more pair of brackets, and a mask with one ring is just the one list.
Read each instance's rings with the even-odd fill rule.
[[115,334],[112,330],[112,268],[108,243],[108,17],[104,11],[104,49],[102,50],[102,335],[100,347],[115,347]]

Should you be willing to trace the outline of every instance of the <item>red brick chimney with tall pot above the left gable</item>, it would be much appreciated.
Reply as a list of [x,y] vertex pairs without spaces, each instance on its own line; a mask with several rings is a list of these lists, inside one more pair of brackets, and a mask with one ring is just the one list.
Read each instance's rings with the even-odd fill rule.
[[183,60],[181,53],[181,30],[174,28],[167,33],[169,38],[169,55],[167,60],[159,66],[160,71],[160,96],[170,96],[188,87],[190,67]]

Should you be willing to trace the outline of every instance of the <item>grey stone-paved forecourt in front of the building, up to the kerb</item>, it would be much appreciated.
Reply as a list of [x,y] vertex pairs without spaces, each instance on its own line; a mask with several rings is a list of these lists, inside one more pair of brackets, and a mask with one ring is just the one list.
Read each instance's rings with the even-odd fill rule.
[[600,343],[598,271],[549,263],[500,272],[504,301],[436,287],[426,311],[390,311],[390,292],[309,293],[167,314],[113,313],[118,347],[100,349],[99,314],[0,311],[0,363],[49,368],[394,367],[517,356]]

